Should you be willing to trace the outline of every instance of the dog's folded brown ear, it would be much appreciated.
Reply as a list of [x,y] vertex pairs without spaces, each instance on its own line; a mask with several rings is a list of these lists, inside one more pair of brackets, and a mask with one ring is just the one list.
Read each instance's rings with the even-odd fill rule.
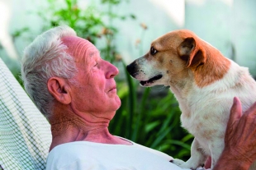
[[198,67],[206,62],[204,49],[192,37],[184,39],[177,50],[179,56],[187,62],[186,67]]

